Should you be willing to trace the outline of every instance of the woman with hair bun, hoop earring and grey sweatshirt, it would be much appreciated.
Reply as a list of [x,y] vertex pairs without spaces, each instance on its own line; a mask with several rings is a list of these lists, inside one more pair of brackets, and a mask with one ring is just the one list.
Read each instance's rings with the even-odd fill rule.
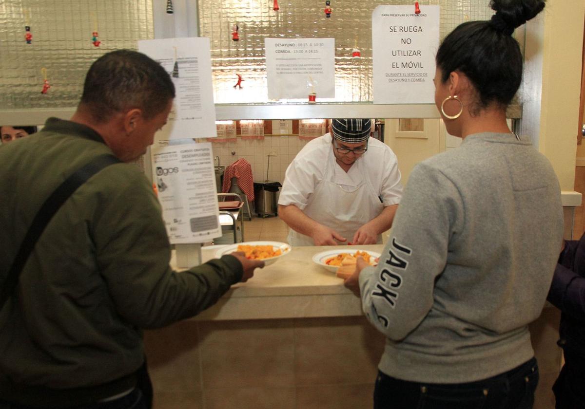
[[387,342],[374,408],[528,409],[539,317],[563,235],[550,162],[508,128],[522,77],[511,36],[542,0],[493,0],[436,54],[435,103],[460,147],[417,164],[376,267],[347,287]]

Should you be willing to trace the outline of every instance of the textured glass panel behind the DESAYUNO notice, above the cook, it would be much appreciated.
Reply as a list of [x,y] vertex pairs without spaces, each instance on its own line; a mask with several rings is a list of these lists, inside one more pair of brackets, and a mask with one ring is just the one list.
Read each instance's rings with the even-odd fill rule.
[[[405,5],[414,0],[198,0],[199,35],[211,39],[214,97],[216,103],[266,103],[264,38],[335,38],[335,99],[321,102],[372,100],[371,13],[378,5]],[[487,20],[493,11],[488,0],[428,0],[441,7],[441,39],[467,20]],[[232,41],[232,25],[239,26],[239,41]],[[354,47],[362,57],[352,58]],[[233,85],[242,75],[242,89]],[[278,102],[294,102],[280,100]],[[299,100],[300,101],[300,100]],[[305,100],[302,100],[305,102]]]

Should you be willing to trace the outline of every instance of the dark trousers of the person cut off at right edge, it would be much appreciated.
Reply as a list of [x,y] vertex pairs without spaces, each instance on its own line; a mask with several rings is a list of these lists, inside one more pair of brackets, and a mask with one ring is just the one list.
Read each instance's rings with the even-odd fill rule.
[[556,409],[585,409],[585,360],[565,352],[565,365],[552,390]]

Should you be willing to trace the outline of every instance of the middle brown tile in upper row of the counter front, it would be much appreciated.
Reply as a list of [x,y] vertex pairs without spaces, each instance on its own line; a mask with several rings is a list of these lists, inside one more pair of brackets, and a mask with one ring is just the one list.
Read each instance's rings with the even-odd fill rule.
[[291,320],[206,321],[199,328],[204,389],[293,386]]

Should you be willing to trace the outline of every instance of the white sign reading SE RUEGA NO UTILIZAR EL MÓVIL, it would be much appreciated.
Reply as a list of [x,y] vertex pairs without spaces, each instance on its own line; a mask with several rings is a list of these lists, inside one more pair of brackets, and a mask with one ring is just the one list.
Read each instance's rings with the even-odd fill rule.
[[435,103],[439,6],[377,6],[371,16],[374,103]]

